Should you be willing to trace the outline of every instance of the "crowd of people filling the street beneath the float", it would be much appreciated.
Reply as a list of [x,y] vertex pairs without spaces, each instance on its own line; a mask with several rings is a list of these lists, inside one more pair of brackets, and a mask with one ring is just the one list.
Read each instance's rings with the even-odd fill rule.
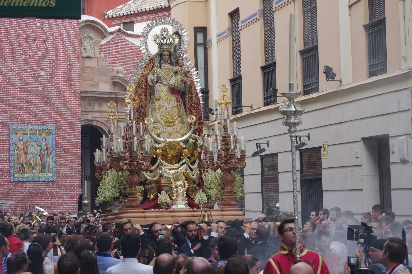
[[412,221],[395,221],[381,205],[361,215],[375,235],[369,246],[347,240],[347,227],[360,222],[339,207],[313,210],[299,235],[291,214],[272,210],[251,222],[146,226],[130,219],[102,222],[97,210],[84,214],[59,212],[32,223],[24,214],[0,212],[0,274],[411,273],[404,264],[412,248]]

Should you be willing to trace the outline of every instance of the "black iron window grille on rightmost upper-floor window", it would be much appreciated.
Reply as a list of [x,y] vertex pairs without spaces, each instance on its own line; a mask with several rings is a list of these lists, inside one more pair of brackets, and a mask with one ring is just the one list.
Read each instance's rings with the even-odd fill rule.
[[385,17],[363,27],[368,34],[369,76],[385,74],[388,71]]

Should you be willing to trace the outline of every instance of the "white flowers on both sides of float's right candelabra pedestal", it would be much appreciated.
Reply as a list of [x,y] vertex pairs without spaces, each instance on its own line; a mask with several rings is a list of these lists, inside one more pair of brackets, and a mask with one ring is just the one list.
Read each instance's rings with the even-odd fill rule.
[[[220,180],[222,177],[222,172],[220,171],[213,171],[211,169],[206,169],[203,173],[203,180],[205,182],[204,187],[201,191],[204,192],[207,198],[207,203],[213,204],[220,201],[225,194],[225,186]],[[232,171],[232,174],[235,176],[234,183],[232,185],[233,196],[235,199],[239,199],[245,196],[242,193],[242,190],[245,188],[243,184],[243,179],[240,174],[235,173]]]

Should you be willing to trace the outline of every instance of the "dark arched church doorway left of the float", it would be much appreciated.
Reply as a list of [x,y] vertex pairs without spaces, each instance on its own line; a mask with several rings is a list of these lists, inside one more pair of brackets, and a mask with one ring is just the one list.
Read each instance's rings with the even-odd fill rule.
[[103,205],[96,206],[97,189],[100,181],[94,176],[94,154],[96,149],[101,150],[101,129],[94,125],[82,125],[82,199],[84,199],[84,181],[87,181],[87,200],[90,201],[88,210],[102,209]]

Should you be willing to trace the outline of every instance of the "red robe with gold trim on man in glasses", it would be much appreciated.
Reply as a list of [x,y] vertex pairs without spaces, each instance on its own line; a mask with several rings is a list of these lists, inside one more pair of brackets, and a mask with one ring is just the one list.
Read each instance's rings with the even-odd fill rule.
[[[322,257],[314,251],[307,250],[303,245],[300,245],[300,259],[313,262],[314,274],[329,274],[328,267],[322,260]],[[295,260],[295,249],[289,251],[289,249],[282,244],[280,251],[272,256],[266,263],[263,274],[288,274]]]

